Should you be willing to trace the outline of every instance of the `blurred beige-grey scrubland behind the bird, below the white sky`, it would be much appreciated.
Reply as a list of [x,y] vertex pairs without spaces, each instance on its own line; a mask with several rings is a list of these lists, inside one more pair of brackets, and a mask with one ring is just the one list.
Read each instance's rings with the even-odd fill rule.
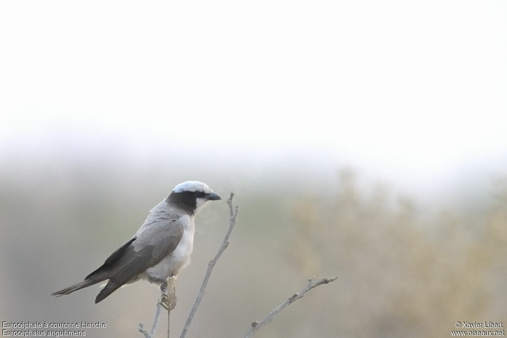
[[[111,153],[115,153],[111,151]],[[456,321],[507,318],[507,180],[480,204],[418,205],[350,168],[311,176],[291,166],[247,171],[211,162],[136,166],[101,154],[52,161],[8,159],[0,172],[0,317],[7,321],[101,321],[96,337],[139,336],[153,319],[156,287],[136,283],[98,305],[93,286],[54,299],[137,230],[147,212],[187,179],[225,199],[239,218],[189,334],[238,337],[308,277],[339,278],[282,312],[259,337],[444,336]],[[236,173],[236,174],[234,174]],[[438,200],[441,200],[439,196]],[[455,203],[451,203],[455,198]],[[436,202],[437,203],[437,202]],[[430,205],[430,204],[429,204]],[[228,227],[225,201],[197,219],[193,263],[177,281],[177,334]],[[164,336],[165,321],[158,336]]]

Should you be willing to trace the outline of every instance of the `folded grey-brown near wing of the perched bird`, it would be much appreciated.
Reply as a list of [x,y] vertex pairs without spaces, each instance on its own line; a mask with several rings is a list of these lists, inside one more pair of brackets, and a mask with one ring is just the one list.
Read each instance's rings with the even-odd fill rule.
[[97,295],[95,302],[104,299],[174,251],[182,239],[183,229],[183,225],[176,219],[160,218],[115,251],[106,260],[110,261],[110,268],[107,269],[109,282]]

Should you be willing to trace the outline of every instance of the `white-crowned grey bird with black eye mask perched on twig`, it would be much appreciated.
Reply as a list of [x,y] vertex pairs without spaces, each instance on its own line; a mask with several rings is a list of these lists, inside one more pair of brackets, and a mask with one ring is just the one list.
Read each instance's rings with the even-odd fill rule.
[[107,281],[95,298],[102,301],[122,285],[138,280],[167,287],[167,278],[176,277],[190,263],[194,246],[194,220],[201,207],[221,197],[199,181],[187,181],[174,187],[157,204],[132,239],[114,251],[84,281],[53,292],[59,297]]

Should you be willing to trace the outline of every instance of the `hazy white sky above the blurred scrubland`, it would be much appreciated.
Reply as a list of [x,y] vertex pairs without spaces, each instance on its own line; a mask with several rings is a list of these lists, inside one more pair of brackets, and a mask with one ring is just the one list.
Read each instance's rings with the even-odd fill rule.
[[2,1],[0,142],[301,147],[449,174],[506,158],[505,18],[501,0]]

